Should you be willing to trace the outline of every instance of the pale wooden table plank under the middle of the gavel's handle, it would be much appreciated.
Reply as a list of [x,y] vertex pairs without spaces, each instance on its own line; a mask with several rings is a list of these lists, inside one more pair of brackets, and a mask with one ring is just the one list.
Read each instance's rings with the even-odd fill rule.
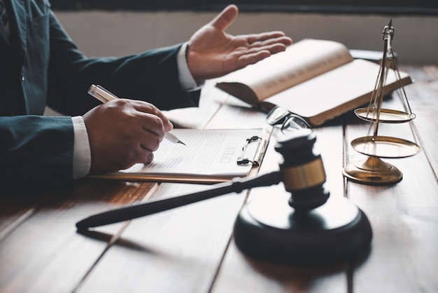
[[[258,128],[264,123],[264,115],[257,111],[253,116],[258,119],[247,120],[246,111],[239,107],[228,109],[229,105],[223,104],[227,95],[219,90],[212,90],[209,95],[213,97],[211,102],[219,101],[220,107],[205,128],[236,128],[242,124],[245,128],[248,123],[242,122],[248,120],[254,122],[250,128]],[[218,100],[221,95],[225,100]],[[209,187],[164,183],[154,198],[181,196]],[[233,193],[133,220],[120,237],[141,249],[112,245],[78,292],[122,292],[127,286],[129,292],[175,292],[175,288],[178,292],[208,292],[245,197],[246,191]]]

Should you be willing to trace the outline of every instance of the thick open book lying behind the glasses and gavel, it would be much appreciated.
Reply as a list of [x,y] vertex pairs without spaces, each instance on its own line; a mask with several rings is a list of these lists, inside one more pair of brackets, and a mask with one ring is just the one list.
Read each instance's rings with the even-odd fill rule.
[[[304,39],[218,79],[216,87],[264,111],[278,105],[321,125],[371,98],[379,64],[353,59],[335,41]],[[403,85],[411,83],[400,72]],[[400,88],[395,71],[388,71],[385,93]]]

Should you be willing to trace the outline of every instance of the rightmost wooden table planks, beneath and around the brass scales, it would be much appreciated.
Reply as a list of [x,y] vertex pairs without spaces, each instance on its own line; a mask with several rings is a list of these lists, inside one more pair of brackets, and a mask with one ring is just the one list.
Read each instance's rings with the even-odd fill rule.
[[[364,264],[355,268],[354,292],[436,292],[438,290],[438,186],[436,173],[428,154],[436,153],[436,119],[430,119],[437,101],[429,100],[425,83],[433,84],[422,72],[413,72],[416,83],[407,86],[409,102],[417,114],[413,128],[409,123],[384,125],[379,135],[401,137],[415,142],[413,130],[422,151],[409,158],[383,159],[399,168],[401,182],[388,186],[369,186],[348,182],[348,198],[365,211],[372,224],[372,250]],[[384,107],[400,109],[400,99],[383,103]],[[432,111],[430,111],[432,110]],[[367,123],[348,123],[348,141],[367,133]],[[432,131],[433,132],[433,131]],[[432,135],[433,136],[433,135]],[[348,147],[348,161],[365,156]],[[429,156],[430,158],[430,156]],[[378,287],[376,287],[378,284]],[[377,288],[377,289],[376,289]]]

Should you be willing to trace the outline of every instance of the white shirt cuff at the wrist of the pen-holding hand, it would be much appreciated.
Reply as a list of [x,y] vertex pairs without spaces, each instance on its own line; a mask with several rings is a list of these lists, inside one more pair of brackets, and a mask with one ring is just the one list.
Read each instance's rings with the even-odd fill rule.
[[87,128],[82,116],[71,118],[74,131],[73,179],[85,177],[91,168],[91,150]]

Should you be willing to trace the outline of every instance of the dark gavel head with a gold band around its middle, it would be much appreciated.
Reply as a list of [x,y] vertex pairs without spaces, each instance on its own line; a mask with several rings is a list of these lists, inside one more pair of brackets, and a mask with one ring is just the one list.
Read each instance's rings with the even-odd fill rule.
[[330,196],[324,189],[325,170],[320,154],[313,145],[316,134],[310,129],[286,132],[278,137],[275,150],[283,156],[281,179],[291,193],[289,205],[296,212],[306,212],[323,205]]

